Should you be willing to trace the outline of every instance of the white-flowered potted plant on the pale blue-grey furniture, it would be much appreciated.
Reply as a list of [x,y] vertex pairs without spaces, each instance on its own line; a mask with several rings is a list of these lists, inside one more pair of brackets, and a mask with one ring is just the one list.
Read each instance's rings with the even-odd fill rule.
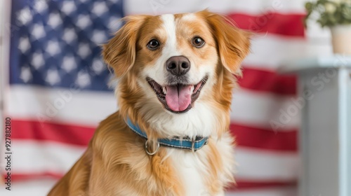
[[351,0],[317,0],[305,3],[309,19],[331,29],[333,52],[351,55]]

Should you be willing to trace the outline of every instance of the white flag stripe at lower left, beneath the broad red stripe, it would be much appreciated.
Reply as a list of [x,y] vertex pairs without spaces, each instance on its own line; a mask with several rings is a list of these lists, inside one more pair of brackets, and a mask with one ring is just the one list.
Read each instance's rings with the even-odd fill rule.
[[65,174],[83,155],[86,147],[55,141],[14,140],[12,174]]

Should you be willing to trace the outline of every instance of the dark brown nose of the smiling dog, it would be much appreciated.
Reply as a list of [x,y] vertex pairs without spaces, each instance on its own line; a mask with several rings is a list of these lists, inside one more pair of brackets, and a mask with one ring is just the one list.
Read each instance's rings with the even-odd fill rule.
[[176,56],[166,61],[166,69],[176,76],[183,76],[190,70],[190,61],[187,57]]

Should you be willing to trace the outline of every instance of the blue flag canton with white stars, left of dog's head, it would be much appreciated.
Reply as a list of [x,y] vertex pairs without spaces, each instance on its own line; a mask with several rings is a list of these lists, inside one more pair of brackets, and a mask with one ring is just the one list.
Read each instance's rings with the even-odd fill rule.
[[11,13],[11,84],[110,90],[101,44],[120,27],[123,1],[16,0]]

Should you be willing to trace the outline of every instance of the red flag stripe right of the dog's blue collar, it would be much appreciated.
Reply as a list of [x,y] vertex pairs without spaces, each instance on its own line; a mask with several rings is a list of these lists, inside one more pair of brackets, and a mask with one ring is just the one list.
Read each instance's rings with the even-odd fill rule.
[[274,132],[244,125],[231,124],[230,132],[238,146],[274,151],[297,151],[297,131]]

